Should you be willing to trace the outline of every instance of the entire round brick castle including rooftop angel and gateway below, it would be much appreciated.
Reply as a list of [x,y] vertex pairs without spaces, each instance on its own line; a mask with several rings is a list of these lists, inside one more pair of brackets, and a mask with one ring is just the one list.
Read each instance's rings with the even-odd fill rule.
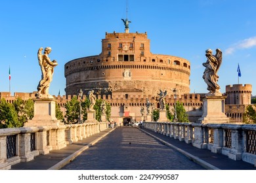
[[[80,89],[84,93],[93,90],[98,98],[110,103],[111,118],[119,123],[141,120],[140,110],[146,99],[159,108],[160,90],[166,90],[166,103],[170,106],[174,104],[176,89],[182,103],[194,105],[195,110],[200,108],[200,95],[188,94],[190,62],[177,56],[151,53],[147,33],[130,33],[129,21],[123,22],[125,32],[106,33],[99,55],[65,64],[66,95],[77,95]],[[144,113],[146,116],[146,107]]]

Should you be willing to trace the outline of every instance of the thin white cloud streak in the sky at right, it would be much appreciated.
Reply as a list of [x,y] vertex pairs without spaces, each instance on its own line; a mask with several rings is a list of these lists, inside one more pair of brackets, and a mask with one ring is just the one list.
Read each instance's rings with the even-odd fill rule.
[[233,46],[230,46],[225,50],[225,54],[230,55],[233,54],[236,50],[248,49],[253,46],[256,46],[256,37],[249,37],[248,39],[244,39],[242,41],[238,41]]

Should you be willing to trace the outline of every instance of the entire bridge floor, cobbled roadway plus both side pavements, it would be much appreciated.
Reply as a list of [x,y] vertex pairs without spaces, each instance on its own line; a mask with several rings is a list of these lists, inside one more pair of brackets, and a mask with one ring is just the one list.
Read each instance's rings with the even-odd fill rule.
[[107,129],[32,161],[12,165],[12,169],[256,170],[244,161],[234,161],[148,129],[142,130],[135,127]]

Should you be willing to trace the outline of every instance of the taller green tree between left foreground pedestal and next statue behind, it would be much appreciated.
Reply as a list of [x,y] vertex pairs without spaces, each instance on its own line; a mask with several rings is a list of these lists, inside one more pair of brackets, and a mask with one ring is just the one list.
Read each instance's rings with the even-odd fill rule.
[[79,101],[76,96],[72,97],[71,101],[68,101],[65,105],[67,120],[66,124],[76,124],[79,120]]

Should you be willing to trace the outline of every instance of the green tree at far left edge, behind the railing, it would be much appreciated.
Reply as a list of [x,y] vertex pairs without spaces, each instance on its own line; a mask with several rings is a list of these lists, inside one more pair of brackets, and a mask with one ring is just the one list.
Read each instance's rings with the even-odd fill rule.
[[0,128],[22,127],[22,122],[18,120],[18,114],[14,105],[1,99],[0,103]]

